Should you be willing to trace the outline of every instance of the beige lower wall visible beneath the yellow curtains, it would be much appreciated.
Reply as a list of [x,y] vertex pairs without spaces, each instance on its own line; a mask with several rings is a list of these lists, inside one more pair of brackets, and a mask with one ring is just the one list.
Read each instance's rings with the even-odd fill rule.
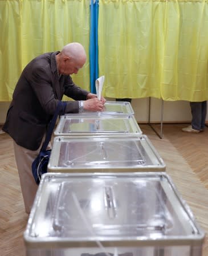
[[[115,99],[107,99],[115,100]],[[0,124],[6,119],[6,112],[9,108],[9,102],[0,102]],[[149,98],[133,99],[132,108],[138,123],[147,123],[149,115]],[[189,101],[164,101],[163,108],[164,123],[187,123],[191,120],[191,112]],[[161,121],[161,100],[151,98],[151,123],[160,123]],[[208,110],[207,118],[208,120]]]

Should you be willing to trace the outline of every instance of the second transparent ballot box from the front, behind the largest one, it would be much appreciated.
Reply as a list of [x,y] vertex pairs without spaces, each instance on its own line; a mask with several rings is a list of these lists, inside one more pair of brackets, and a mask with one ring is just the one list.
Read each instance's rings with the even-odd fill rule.
[[56,136],[48,172],[140,172],[165,170],[146,135]]

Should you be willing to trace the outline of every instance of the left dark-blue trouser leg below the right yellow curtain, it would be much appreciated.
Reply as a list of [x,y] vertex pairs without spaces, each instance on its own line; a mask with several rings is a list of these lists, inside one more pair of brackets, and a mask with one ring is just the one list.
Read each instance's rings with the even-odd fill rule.
[[191,107],[191,126],[193,129],[200,131],[202,122],[202,103],[201,102],[190,102]]

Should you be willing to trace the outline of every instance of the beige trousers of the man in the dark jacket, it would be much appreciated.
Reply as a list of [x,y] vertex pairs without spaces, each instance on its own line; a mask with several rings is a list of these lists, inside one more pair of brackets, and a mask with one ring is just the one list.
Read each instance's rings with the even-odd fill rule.
[[[51,144],[48,144],[48,148]],[[41,146],[40,146],[41,148]],[[22,196],[25,204],[26,213],[30,213],[32,204],[35,199],[35,195],[38,189],[38,185],[32,175],[32,162],[38,156],[40,148],[36,151],[23,148],[14,141],[14,155],[17,163],[17,169],[19,173],[19,181],[22,189]]]

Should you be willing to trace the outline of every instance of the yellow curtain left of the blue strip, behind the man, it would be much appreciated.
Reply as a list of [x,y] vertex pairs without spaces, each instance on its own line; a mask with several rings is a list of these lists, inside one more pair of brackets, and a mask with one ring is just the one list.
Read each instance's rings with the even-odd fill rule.
[[[9,101],[23,68],[44,52],[83,44],[88,55],[88,0],[0,0],[0,101]],[[89,59],[73,80],[89,90]]]

